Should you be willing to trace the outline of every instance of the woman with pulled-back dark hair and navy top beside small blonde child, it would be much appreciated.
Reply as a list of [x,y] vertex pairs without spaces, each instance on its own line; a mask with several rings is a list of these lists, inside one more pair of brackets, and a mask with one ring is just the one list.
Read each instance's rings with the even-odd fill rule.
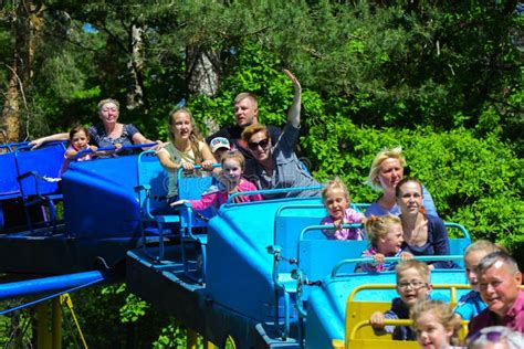
[[[402,250],[413,255],[449,255],[450,242],[444,222],[425,214],[422,184],[415,178],[405,178],[396,188],[397,204],[402,223]],[[428,262],[430,268],[453,268],[453,262]]]

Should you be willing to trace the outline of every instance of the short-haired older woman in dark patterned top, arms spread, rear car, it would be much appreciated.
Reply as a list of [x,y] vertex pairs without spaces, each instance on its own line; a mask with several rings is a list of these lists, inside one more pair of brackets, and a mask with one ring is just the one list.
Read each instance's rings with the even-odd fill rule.
[[[98,148],[109,148],[130,145],[144,145],[155,142],[147,139],[132,124],[118,123],[119,104],[118,101],[107,98],[98,103],[98,117],[102,124],[91,126],[88,128],[91,142]],[[34,148],[40,147],[43,142],[52,140],[67,140],[69,134],[55,134],[31,141]],[[158,141],[156,141],[158,142]]]

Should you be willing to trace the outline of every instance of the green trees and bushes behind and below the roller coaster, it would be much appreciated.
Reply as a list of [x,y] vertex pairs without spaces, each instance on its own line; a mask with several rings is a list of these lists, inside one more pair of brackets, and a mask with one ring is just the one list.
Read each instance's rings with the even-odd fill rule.
[[[0,13],[3,82],[14,62],[11,2]],[[407,171],[444,219],[522,251],[524,67],[509,34],[524,15],[513,14],[514,3],[48,1],[21,107],[23,137],[96,123],[105,97],[117,98],[120,120],[151,139],[167,139],[168,113],[182,98],[205,133],[232,125],[240,92],[258,95],[262,123],[283,125],[293,95],[286,67],[303,86],[298,151],[317,179],[339,176],[355,202],[369,202],[378,195],[364,184],[373,158],[402,146]],[[145,29],[145,104],[128,110],[132,23]],[[217,96],[189,95],[188,46],[220,57]],[[95,347],[184,345],[182,329],[122,286],[73,297]]]

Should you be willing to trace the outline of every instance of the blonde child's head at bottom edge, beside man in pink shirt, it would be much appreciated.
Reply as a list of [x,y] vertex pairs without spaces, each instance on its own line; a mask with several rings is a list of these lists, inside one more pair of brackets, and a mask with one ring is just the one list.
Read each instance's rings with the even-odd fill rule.
[[451,349],[459,345],[460,316],[441,300],[418,302],[410,313],[420,348]]

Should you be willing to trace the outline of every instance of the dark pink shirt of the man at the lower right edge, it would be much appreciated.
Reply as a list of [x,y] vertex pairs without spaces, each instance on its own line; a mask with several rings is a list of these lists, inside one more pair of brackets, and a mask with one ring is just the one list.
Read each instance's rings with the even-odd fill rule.
[[513,303],[513,306],[502,319],[495,313],[491,311],[490,308],[485,308],[478,316],[472,318],[468,326],[469,334],[473,335],[484,327],[497,325],[524,334],[524,289],[518,289],[518,296],[515,303]]

